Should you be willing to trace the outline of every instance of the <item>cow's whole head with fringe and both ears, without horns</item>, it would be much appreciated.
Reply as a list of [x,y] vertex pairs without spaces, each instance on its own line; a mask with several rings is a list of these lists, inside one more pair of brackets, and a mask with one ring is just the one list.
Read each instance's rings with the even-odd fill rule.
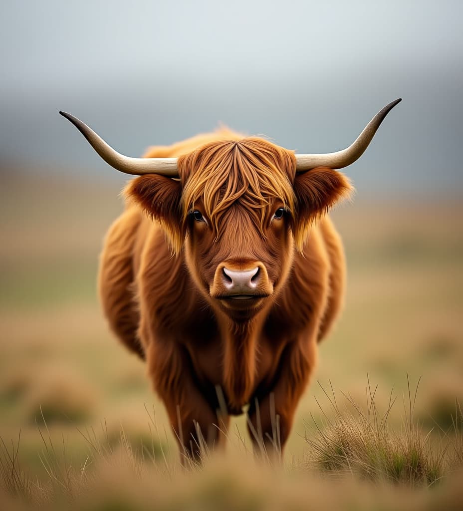
[[180,182],[147,175],[128,194],[184,250],[202,295],[236,321],[274,300],[311,223],[349,190],[330,169],[296,176],[294,154],[258,138],[209,144],[178,167]]

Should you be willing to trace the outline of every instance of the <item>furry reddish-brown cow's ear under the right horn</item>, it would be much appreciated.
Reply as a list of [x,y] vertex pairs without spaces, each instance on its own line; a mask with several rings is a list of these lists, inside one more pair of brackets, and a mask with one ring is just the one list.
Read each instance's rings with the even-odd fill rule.
[[294,178],[297,211],[294,219],[294,241],[302,250],[314,221],[326,215],[340,199],[353,190],[349,179],[336,170],[320,167]]

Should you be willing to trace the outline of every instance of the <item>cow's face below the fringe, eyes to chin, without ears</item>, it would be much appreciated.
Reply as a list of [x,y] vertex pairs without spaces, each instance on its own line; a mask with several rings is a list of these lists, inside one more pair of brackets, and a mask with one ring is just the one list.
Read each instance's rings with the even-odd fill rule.
[[284,203],[273,200],[263,210],[258,226],[238,200],[223,211],[218,233],[202,200],[189,215],[185,248],[190,272],[203,295],[236,320],[269,303],[286,281],[293,258]]

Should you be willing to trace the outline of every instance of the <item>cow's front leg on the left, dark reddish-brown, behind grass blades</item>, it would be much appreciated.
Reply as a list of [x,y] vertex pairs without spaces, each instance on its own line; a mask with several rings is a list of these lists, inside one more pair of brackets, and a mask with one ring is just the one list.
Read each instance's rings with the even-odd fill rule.
[[188,355],[174,343],[149,346],[149,374],[163,400],[180,447],[180,458],[199,461],[204,448],[223,443],[228,417],[218,416],[197,388]]

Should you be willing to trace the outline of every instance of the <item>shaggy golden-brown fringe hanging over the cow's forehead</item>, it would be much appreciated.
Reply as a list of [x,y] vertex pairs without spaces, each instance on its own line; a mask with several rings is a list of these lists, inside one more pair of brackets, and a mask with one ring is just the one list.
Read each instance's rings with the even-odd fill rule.
[[[294,154],[268,141],[245,138],[204,146],[179,158],[183,218],[201,203],[218,235],[243,212],[260,230],[275,201],[294,206]],[[199,202],[200,201],[200,202]]]

